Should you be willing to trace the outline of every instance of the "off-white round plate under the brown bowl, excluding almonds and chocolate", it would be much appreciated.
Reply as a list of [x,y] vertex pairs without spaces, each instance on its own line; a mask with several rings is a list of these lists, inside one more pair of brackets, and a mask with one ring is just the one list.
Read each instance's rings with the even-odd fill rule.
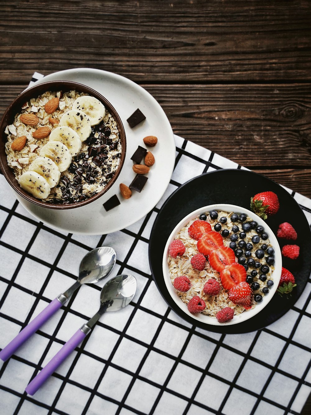
[[[119,113],[124,125],[126,158],[114,186],[88,205],[68,210],[46,209],[17,195],[19,202],[42,222],[72,233],[107,234],[124,229],[144,217],[163,196],[175,163],[173,130],[163,109],[141,86],[112,72],[91,68],[68,69],[51,73],[35,84],[47,81],[79,82],[107,98]],[[126,120],[137,108],[143,112],[146,120],[131,128]],[[135,177],[133,161],[130,159],[138,145],[145,147],[143,138],[148,135],[158,137],[158,144],[150,149],[155,156],[155,164],[148,173],[148,181],[141,193],[133,191],[131,198],[125,200],[119,192],[119,184],[129,185]],[[102,204],[114,194],[117,194],[121,205],[106,212]]]

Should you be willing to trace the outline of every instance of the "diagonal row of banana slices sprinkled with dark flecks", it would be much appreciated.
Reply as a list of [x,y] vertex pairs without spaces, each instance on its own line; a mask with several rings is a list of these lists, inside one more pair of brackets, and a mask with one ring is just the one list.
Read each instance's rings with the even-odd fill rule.
[[77,98],[73,109],[61,117],[61,126],[52,130],[40,156],[20,176],[20,186],[38,199],[47,198],[51,188],[58,184],[61,172],[67,170],[82,142],[90,136],[92,126],[99,124],[105,113],[104,105],[96,98],[87,95]]

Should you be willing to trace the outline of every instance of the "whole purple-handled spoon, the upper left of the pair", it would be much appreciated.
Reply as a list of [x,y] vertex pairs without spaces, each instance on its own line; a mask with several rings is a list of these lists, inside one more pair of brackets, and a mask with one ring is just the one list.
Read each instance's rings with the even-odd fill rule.
[[79,267],[78,280],[64,293],[54,298],[39,315],[34,318],[17,336],[0,352],[0,359],[6,361],[29,337],[69,300],[74,291],[82,284],[97,283],[107,277],[114,268],[117,254],[111,247],[100,247],[88,252]]

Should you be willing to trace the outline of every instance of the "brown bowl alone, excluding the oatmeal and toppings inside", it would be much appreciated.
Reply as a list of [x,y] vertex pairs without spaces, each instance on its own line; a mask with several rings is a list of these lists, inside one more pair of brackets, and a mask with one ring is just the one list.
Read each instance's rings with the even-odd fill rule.
[[[53,203],[47,203],[43,200],[37,199],[34,196],[32,196],[30,193],[27,193],[25,190],[23,190],[20,186],[18,181],[15,178],[15,175],[13,173],[13,170],[8,166],[7,164],[7,155],[5,154],[5,143],[7,142],[7,135],[5,134],[5,128],[7,125],[10,125],[14,121],[14,117],[17,113],[21,112],[22,105],[29,101],[31,98],[37,98],[39,95],[47,92],[47,91],[63,91],[68,92],[70,90],[75,90],[77,92],[84,92],[89,95],[92,95],[93,97],[100,100],[100,102],[103,103],[105,108],[110,112],[110,114],[114,117],[114,120],[117,123],[117,127],[119,130],[119,137],[122,145],[121,150],[121,157],[119,161],[119,166],[117,167],[116,172],[114,173],[114,176],[111,178],[107,186],[105,186],[104,189],[102,189],[99,193],[96,195],[91,196],[87,200],[82,200],[80,202],[76,203],[68,203],[68,204],[53,204]],[[80,207],[87,205],[88,203],[91,203],[93,200],[100,198],[104,193],[109,190],[114,182],[117,180],[117,177],[119,176],[119,173],[121,171],[121,168],[124,164],[126,154],[126,138],[125,138],[125,131],[122,124],[122,121],[117,113],[117,111],[114,109],[114,107],[109,103],[109,101],[104,98],[100,93],[93,90],[92,88],[89,88],[86,85],[82,85],[80,83],[76,82],[69,82],[69,81],[52,81],[52,82],[45,82],[41,83],[39,85],[35,85],[32,88],[29,88],[25,91],[23,91],[13,102],[12,104],[7,108],[5,111],[1,122],[0,122],[0,168],[2,170],[3,175],[7,179],[8,183],[12,186],[12,188],[19,193],[24,199],[29,200],[30,202],[39,205],[41,207],[48,207],[49,209],[72,209],[74,207]]]

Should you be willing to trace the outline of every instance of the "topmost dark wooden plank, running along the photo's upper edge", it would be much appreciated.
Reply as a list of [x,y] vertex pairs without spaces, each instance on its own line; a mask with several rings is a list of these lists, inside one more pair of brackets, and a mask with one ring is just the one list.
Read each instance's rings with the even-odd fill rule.
[[75,67],[139,82],[310,79],[307,0],[241,0],[238,7],[231,0],[160,7],[149,0],[10,0],[0,12],[2,82]]

